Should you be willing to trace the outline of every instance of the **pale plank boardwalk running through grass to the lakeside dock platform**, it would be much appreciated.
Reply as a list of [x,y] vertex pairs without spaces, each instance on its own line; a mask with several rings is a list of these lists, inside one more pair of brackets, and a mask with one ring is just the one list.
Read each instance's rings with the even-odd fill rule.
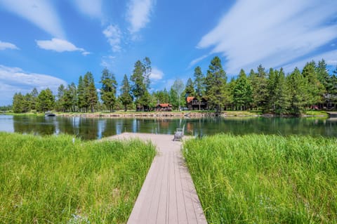
[[122,133],[111,138],[140,138],[157,145],[128,224],[207,223],[192,178],[180,152],[181,143],[171,135]]

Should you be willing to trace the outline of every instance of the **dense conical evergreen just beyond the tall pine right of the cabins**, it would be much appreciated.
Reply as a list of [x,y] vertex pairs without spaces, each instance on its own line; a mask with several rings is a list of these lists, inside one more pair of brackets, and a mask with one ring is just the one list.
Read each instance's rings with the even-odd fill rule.
[[251,103],[251,85],[246,77],[244,70],[241,70],[239,77],[235,81],[233,89],[233,102],[239,110],[246,110]]

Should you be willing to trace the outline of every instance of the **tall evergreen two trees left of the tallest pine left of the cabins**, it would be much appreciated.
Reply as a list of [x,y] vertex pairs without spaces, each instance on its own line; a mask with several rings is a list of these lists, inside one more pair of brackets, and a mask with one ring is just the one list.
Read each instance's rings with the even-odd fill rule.
[[116,88],[117,81],[109,70],[106,68],[102,72],[102,77],[100,78],[100,83],[102,88],[100,88],[100,98],[103,103],[109,108],[110,112],[114,110],[114,105],[116,104]]

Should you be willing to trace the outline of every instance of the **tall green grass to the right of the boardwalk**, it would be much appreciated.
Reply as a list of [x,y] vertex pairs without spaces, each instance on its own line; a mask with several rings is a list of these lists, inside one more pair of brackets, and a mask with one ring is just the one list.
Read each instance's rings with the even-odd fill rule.
[[218,135],[184,155],[209,223],[337,223],[337,140]]

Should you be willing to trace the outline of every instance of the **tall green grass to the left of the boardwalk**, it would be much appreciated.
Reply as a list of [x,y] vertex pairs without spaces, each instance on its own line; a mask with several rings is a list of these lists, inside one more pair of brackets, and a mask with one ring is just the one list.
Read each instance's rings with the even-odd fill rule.
[[0,133],[0,223],[126,223],[154,154],[137,140]]

